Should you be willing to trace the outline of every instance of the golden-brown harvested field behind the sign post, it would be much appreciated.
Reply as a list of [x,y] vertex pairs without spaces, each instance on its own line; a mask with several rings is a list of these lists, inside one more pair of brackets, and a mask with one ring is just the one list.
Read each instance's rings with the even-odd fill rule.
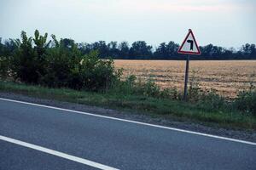
[[[124,68],[124,77],[135,75],[153,79],[161,88],[183,90],[185,61],[115,59],[116,68]],[[238,91],[256,85],[256,60],[190,60],[189,80],[194,77],[204,90],[234,98]]]

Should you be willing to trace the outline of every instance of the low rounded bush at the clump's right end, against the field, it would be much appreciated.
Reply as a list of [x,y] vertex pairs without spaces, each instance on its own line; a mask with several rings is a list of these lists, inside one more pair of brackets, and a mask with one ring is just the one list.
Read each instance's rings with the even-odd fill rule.
[[71,82],[80,82],[79,88],[98,91],[113,88],[119,76],[114,70],[113,59],[99,59],[99,52],[91,51],[73,68]]

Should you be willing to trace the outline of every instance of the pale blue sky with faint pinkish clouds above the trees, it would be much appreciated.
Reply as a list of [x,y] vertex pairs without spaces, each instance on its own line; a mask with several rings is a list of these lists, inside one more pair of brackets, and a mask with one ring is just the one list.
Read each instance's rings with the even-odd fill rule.
[[0,37],[55,34],[76,42],[183,42],[240,48],[256,43],[256,0],[0,0]]

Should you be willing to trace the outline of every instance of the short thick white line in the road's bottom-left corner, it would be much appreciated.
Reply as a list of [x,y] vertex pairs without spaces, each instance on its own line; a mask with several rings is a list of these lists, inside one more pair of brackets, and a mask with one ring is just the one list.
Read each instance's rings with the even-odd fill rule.
[[31,148],[33,150],[39,150],[39,151],[42,151],[44,153],[48,153],[48,154],[51,154],[51,155],[54,155],[54,156],[59,156],[59,157],[65,158],[67,160],[76,161],[76,162],[82,163],[82,164],[90,166],[90,167],[96,167],[96,168],[104,169],[104,170],[118,170],[118,169],[113,168],[113,167],[108,167],[106,165],[102,165],[101,163],[97,163],[95,161],[89,161],[89,160],[86,160],[84,158],[80,158],[80,157],[77,157],[77,156],[71,156],[71,155],[65,154],[65,153],[60,152],[60,151],[50,150],[50,149],[44,148],[42,146],[38,146],[38,145],[35,145],[35,144],[29,144],[29,143],[26,143],[26,142],[23,142],[23,141],[20,141],[20,140],[17,140],[17,139],[11,139],[11,138],[8,138],[8,137],[2,136],[2,135],[0,135],[0,140],[6,141],[6,142],[9,142],[9,143],[12,143],[12,144],[19,144],[21,146],[25,146],[26,148]]

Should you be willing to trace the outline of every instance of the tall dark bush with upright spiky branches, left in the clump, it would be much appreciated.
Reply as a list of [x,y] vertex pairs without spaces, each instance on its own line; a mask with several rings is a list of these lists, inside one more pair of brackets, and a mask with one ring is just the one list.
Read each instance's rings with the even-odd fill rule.
[[18,48],[11,59],[11,71],[16,80],[38,84],[45,71],[45,51],[49,46],[46,39],[47,33],[40,36],[38,30],[35,38],[27,37],[26,32],[21,31],[21,42],[17,41]]

